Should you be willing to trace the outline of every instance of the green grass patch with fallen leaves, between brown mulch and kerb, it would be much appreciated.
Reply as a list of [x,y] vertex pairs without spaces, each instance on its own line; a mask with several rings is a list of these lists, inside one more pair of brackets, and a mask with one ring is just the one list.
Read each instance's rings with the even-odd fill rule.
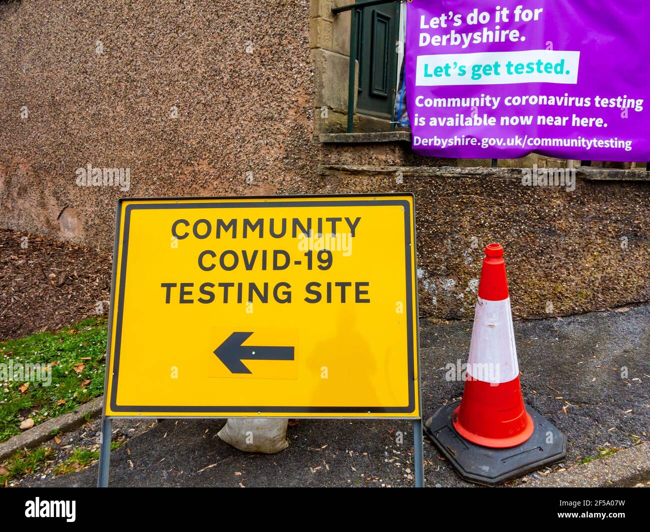
[[[27,338],[0,342],[0,442],[21,432],[19,418],[31,418],[38,425],[50,418],[76,410],[99,397],[104,390],[107,339],[106,317],[90,318],[58,330]],[[12,379],[18,364],[49,367],[49,379],[33,382]],[[20,377],[19,375],[16,375]]]

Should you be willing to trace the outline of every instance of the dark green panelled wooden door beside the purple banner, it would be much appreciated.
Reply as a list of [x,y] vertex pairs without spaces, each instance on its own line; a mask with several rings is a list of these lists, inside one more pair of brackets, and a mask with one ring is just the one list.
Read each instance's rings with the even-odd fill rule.
[[397,2],[357,9],[359,96],[357,113],[391,120],[399,35]]

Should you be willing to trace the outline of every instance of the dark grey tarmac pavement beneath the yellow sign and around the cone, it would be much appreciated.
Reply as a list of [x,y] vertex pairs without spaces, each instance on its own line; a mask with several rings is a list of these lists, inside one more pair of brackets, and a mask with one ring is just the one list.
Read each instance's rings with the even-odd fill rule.
[[[466,360],[470,335],[471,322],[421,321],[425,414],[462,394],[463,382],[446,380],[445,366],[459,358]],[[524,399],[565,432],[569,451],[562,464],[510,485],[559,474],[555,472],[598,457],[602,449],[647,440],[650,305],[517,321],[515,337]],[[129,432],[136,423],[136,430]],[[407,486],[413,482],[413,434],[406,421],[301,419],[289,427],[289,448],[277,455],[247,454],[227,446],[216,436],[223,424],[223,419],[114,421],[114,429],[129,440],[111,455],[110,485]],[[94,435],[98,421],[94,425],[84,430]],[[396,443],[398,432],[404,434],[402,445]],[[424,460],[426,485],[469,486],[428,440]],[[96,479],[94,464],[59,477],[32,475],[21,485],[93,486]]]

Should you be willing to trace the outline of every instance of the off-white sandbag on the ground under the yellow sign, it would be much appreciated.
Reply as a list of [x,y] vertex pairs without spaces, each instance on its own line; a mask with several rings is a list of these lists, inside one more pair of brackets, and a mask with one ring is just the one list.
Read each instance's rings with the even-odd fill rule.
[[276,418],[228,419],[218,436],[240,451],[270,455],[289,447],[288,423],[289,419]]

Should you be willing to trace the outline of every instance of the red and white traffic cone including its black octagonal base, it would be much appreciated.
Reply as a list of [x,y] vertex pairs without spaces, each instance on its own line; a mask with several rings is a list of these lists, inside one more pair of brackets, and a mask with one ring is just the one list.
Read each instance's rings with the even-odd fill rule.
[[567,441],[524,405],[503,248],[485,253],[463,398],[426,416],[424,428],[461,477],[491,485],[564,458]]

